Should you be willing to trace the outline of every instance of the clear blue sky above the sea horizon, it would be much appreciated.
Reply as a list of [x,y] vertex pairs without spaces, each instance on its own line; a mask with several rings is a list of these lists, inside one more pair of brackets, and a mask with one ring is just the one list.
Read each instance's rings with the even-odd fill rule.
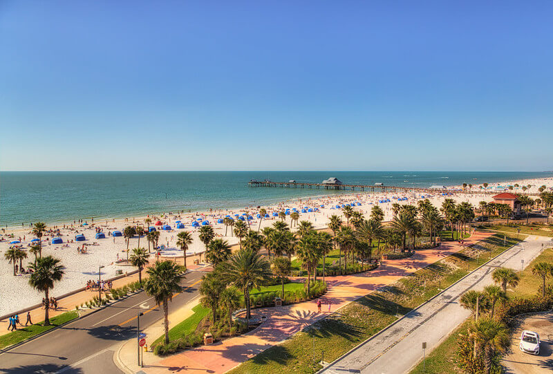
[[552,14],[3,0],[0,169],[553,169]]

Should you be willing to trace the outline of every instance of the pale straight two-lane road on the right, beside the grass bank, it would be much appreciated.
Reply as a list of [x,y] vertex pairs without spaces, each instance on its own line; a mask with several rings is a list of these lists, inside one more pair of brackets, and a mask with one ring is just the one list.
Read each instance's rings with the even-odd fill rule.
[[422,342],[427,342],[427,353],[431,352],[469,317],[470,312],[458,302],[463,293],[470,289],[481,290],[491,284],[491,272],[498,266],[521,270],[521,260],[524,260],[523,265],[526,266],[548,243],[550,238],[529,236],[418,310],[409,313],[388,330],[346,353],[322,372],[408,373],[422,359]]

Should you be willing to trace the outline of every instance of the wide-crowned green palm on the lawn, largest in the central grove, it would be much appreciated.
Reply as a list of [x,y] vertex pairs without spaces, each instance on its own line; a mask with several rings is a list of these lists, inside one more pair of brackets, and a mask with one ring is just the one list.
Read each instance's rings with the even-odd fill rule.
[[250,290],[260,288],[271,276],[270,265],[252,250],[239,250],[221,264],[223,279],[244,292],[246,318],[250,320]]

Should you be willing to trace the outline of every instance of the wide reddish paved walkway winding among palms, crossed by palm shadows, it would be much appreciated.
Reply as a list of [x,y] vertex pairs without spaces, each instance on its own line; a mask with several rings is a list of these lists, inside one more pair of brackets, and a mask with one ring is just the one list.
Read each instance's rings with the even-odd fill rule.
[[[491,233],[477,232],[470,239],[465,240],[465,246],[476,243],[476,241],[488,236],[491,236]],[[182,353],[165,358],[156,357],[153,353],[146,353],[144,355],[144,368],[136,366],[135,359],[133,362],[124,361],[124,365],[132,373],[139,370],[151,374],[174,373],[183,370],[194,370],[198,373],[225,373],[250,357],[279,344],[306,326],[326,317],[329,314],[328,301],[330,301],[330,312],[335,312],[347,303],[386,286],[406,274],[439,261],[444,256],[458,252],[463,247],[456,242],[444,242],[440,249],[420,250],[408,259],[388,260],[384,262],[384,265],[371,272],[341,277],[326,277],[329,290],[323,298],[324,312],[322,313],[317,312],[315,301],[306,301],[278,308],[257,309],[255,310],[256,313],[265,315],[268,319],[250,333],[226,339],[212,346],[200,346],[185,350]],[[136,357],[135,355],[134,357]],[[120,359],[125,360],[126,355],[120,355]]]

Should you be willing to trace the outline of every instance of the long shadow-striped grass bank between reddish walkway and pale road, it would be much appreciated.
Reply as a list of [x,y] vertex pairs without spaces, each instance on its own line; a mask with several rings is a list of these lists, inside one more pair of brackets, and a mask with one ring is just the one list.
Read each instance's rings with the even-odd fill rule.
[[[491,236],[480,245],[485,254],[496,256],[515,243],[518,243],[517,239],[508,238],[503,245],[501,235]],[[411,277],[398,280],[386,291],[367,294],[342,308],[340,313],[322,319],[283,344],[252,357],[230,373],[314,373],[321,368],[318,362],[323,351],[326,362],[337,359],[395,321],[397,313],[406,314],[440,292],[440,288],[467,274],[467,268],[474,270],[478,260],[473,255],[476,251],[462,250],[418,270]]]

